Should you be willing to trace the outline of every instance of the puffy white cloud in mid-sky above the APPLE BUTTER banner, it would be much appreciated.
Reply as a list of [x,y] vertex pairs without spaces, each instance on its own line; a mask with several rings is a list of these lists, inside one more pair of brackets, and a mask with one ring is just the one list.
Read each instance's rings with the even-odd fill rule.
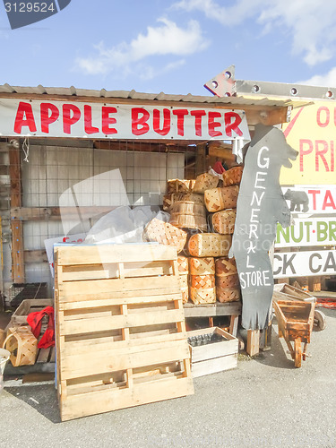
[[179,28],[175,22],[159,19],[158,27],[148,27],[146,34],[139,34],[131,42],[122,42],[111,48],[103,42],[95,46],[96,56],[77,58],[76,67],[89,74],[107,74],[118,72],[122,75],[139,74],[142,79],[151,79],[159,73],[173,70],[184,64],[177,60],[165,65],[159,71],[143,61],[151,56],[187,56],[208,47],[209,42],[202,36],[198,22],[189,21],[185,29]]

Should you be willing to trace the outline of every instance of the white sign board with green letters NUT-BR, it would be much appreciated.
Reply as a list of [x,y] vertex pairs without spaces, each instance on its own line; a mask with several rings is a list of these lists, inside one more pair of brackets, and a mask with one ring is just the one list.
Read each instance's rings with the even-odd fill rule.
[[288,228],[282,228],[278,224],[275,247],[335,245],[336,218],[296,218],[294,224]]

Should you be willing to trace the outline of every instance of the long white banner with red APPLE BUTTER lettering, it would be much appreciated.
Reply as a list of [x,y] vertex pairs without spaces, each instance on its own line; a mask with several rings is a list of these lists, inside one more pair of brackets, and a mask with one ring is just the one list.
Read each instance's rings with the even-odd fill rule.
[[0,135],[250,140],[243,110],[0,99]]

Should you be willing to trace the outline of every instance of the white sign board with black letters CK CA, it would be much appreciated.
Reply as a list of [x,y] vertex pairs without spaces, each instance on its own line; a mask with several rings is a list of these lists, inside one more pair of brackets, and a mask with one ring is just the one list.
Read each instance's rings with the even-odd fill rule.
[[274,279],[336,274],[336,251],[282,252],[274,254]]

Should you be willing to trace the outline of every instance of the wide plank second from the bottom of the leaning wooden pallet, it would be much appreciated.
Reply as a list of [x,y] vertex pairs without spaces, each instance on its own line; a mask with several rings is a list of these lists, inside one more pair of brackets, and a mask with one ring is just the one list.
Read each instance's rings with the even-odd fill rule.
[[73,355],[71,358],[63,358],[61,375],[63,379],[68,380],[80,376],[167,364],[189,357],[187,343],[175,340],[166,343],[164,346],[162,344],[150,344],[133,347],[129,350],[116,349],[112,352],[96,352],[90,355],[90,360],[86,355]]

